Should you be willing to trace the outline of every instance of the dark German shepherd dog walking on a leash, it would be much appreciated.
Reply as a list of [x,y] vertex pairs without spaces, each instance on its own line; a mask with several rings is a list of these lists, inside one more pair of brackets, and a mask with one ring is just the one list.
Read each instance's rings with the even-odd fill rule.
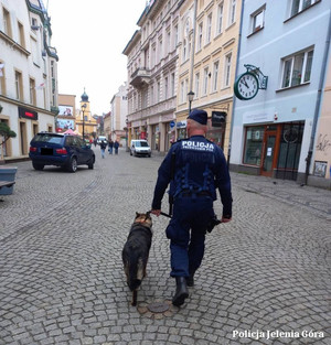
[[152,239],[150,212],[138,213],[121,252],[127,283],[132,291],[131,305],[137,305],[137,290],[146,277],[146,266]]

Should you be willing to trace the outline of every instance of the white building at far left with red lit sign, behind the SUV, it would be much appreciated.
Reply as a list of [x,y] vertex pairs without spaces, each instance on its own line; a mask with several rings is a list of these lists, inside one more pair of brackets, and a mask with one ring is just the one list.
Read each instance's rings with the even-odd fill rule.
[[6,162],[29,157],[39,131],[55,131],[57,54],[42,0],[0,0],[0,121],[17,133],[0,145]]

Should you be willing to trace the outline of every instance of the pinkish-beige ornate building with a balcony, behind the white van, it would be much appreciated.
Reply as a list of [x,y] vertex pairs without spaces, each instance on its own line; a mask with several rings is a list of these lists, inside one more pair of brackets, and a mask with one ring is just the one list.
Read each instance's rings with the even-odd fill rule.
[[183,1],[150,1],[124,50],[128,56],[128,136],[166,152],[175,120],[179,9]]

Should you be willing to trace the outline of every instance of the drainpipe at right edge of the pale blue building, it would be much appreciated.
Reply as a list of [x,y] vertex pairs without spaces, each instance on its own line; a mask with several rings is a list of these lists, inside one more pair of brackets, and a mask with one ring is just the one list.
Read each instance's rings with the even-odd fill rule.
[[310,170],[310,164],[311,164],[311,157],[312,157],[312,151],[313,151],[314,137],[316,137],[316,130],[317,130],[317,122],[318,122],[318,118],[319,118],[319,114],[320,114],[322,89],[323,89],[324,79],[325,79],[325,75],[327,75],[325,71],[327,71],[327,64],[328,64],[328,55],[329,55],[329,50],[330,50],[330,36],[331,36],[331,12],[329,15],[329,28],[328,28],[327,32],[328,32],[328,36],[327,36],[327,41],[325,41],[324,56],[323,56],[320,82],[319,82],[319,90],[318,90],[318,96],[317,96],[316,107],[314,107],[310,144],[309,144],[309,150],[308,150],[308,154],[306,158],[306,174],[305,174],[305,184],[306,185],[308,182],[309,170]]

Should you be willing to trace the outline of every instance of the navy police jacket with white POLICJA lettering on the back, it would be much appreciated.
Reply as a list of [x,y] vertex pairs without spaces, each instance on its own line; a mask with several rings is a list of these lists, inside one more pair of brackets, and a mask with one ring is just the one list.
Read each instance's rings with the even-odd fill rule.
[[161,209],[166,188],[174,198],[181,194],[210,195],[213,201],[220,191],[223,216],[232,216],[231,179],[224,153],[203,136],[177,141],[169,150],[158,171],[152,209]]

